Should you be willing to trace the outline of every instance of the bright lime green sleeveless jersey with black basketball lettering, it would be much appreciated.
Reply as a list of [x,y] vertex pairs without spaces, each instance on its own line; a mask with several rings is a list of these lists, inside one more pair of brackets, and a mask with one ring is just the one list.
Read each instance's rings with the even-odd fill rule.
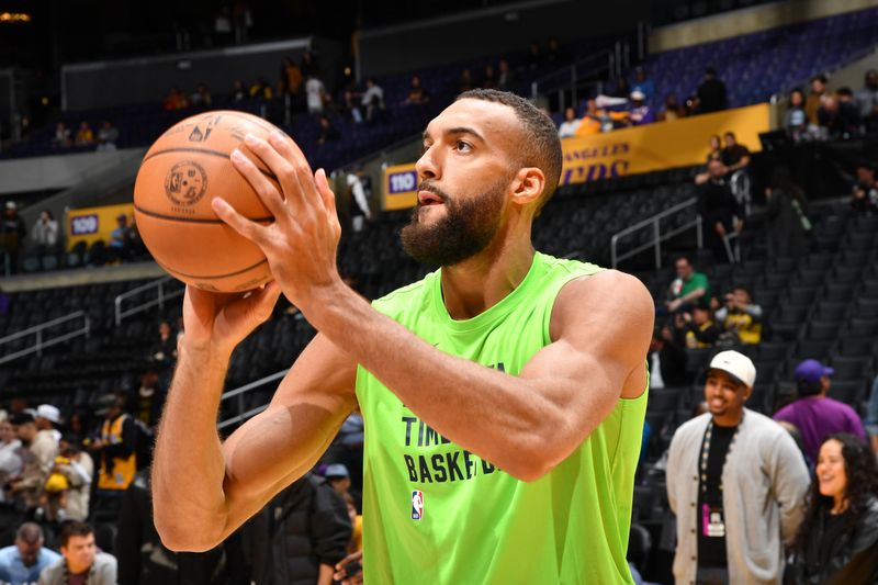
[[[441,351],[518,375],[551,342],[561,288],[599,270],[538,252],[518,288],[465,320],[449,316],[439,271],[373,305]],[[534,482],[438,435],[362,367],[357,397],[365,421],[368,584],[632,583],[626,550],[645,391],[619,400],[567,459]],[[479,425],[473,413],[460,416]]]

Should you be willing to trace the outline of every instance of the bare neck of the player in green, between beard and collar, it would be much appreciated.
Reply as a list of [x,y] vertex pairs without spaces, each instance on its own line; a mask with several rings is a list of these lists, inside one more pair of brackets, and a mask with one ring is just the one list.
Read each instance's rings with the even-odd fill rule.
[[451,318],[484,313],[525,280],[534,255],[530,232],[527,238],[503,232],[473,258],[442,268],[442,296]]

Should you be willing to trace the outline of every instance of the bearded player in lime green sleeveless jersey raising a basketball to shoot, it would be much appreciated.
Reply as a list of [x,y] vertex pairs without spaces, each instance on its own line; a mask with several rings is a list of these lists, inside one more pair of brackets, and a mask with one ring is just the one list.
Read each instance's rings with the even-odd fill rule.
[[[428,125],[406,250],[442,268],[370,305],[336,270],[323,170],[285,136],[238,171],[275,222],[214,211],[266,254],[245,297],[193,288],[154,464],[156,526],[207,550],[308,471],[359,404],[369,583],[631,583],[626,562],[646,408],[649,292],[534,252],[561,173],[552,122],[474,90]],[[283,293],[319,331],[269,407],[225,441],[216,413],[235,346]]]

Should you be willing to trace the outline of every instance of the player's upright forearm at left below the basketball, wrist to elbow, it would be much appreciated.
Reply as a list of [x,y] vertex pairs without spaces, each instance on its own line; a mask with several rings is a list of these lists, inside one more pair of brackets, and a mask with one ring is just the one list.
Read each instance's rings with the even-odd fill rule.
[[[224,356],[181,347],[153,463],[156,527],[171,549],[212,548],[225,526],[225,462],[216,416],[227,367]],[[179,540],[183,531],[184,543]],[[190,540],[193,533],[205,542]]]

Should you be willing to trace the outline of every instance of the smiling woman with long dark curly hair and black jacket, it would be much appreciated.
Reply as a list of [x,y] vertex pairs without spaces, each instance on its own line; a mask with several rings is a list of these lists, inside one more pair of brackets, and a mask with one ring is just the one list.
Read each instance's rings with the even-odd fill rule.
[[834,434],[821,442],[792,553],[797,585],[878,582],[878,469],[857,437]]

